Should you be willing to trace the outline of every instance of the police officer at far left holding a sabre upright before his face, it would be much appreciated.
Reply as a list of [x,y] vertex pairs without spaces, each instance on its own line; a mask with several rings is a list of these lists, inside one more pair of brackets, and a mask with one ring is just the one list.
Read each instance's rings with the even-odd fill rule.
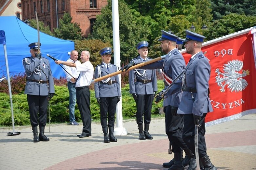
[[[33,142],[49,141],[44,135],[47,121],[48,100],[53,97],[54,84],[49,60],[38,54],[40,45],[37,42],[29,44],[31,56],[22,60],[26,74],[25,94],[30,112],[30,123],[33,130]],[[39,122],[37,121],[39,119]],[[39,125],[39,137],[37,126]]]

